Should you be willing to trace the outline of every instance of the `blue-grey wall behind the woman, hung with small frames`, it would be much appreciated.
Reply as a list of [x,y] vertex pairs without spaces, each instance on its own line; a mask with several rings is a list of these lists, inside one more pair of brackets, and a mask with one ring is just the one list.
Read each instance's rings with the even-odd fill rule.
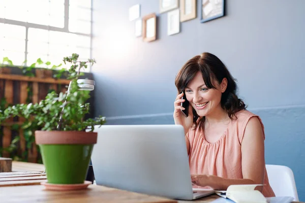
[[[141,5],[141,17],[156,12],[157,41],[134,36],[128,20],[134,4]],[[198,17],[167,36],[158,0],[93,1],[96,115],[108,124],[173,123],[176,73],[194,55],[214,53],[264,122],[266,163],[292,168],[305,201],[305,1],[230,0],[225,17],[206,23],[197,5]]]

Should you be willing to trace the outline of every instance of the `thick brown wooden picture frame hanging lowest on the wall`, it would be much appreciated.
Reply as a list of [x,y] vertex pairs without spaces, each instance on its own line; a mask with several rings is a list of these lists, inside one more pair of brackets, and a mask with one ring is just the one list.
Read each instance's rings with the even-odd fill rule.
[[157,39],[157,16],[156,13],[151,13],[142,19],[142,38],[145,42],[151,42]]

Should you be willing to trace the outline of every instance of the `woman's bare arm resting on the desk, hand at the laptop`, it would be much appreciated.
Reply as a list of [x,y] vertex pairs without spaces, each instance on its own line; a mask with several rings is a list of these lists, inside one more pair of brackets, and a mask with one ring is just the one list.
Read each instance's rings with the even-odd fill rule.
[[241,142],[241,167],[243,179],[225,179],[210,175],[192,175],[192,182],[198,186],[210,186],[226,190],[236,184],[263,184],[264,181],[264,136],[257,117],[250,118]]

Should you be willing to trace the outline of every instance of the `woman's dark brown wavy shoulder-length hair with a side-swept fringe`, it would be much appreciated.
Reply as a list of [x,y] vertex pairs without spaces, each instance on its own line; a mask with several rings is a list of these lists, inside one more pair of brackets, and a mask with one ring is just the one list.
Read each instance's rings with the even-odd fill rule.
[[[228,113],[230,119],[236,119],[235,113],[238,111],[246,110],[245,103],[237,96],[236,80],[231,76],[225,64],[217,56],[208,52],[194,56],[182,66],[175,79],[178,93],[184,91],[198,72],[201,72],[203,81],[209,89],[216,89],[214,86],[215,80],[219,84],[224,78],[228,80],[227,88],[221,96],[221,107]],[[192,110],[194,115],[193,124],[196,128],[199,116],[194,108]],[[204,126],[204,121],[205,117],[200,118],[199,127]]]

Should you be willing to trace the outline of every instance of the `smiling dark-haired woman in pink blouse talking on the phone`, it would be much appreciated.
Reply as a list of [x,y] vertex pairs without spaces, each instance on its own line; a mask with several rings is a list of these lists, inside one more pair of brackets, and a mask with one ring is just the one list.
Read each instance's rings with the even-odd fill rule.
[[[174,121],[185,129],[195,187],[264,184],[263,195],[275,196],[265,168],[263,123],[237,97],[224,63],[210,53],[195,56],[181,68],[175,85]],[[182,96],[190,103],[188,117],[181,113]]]

